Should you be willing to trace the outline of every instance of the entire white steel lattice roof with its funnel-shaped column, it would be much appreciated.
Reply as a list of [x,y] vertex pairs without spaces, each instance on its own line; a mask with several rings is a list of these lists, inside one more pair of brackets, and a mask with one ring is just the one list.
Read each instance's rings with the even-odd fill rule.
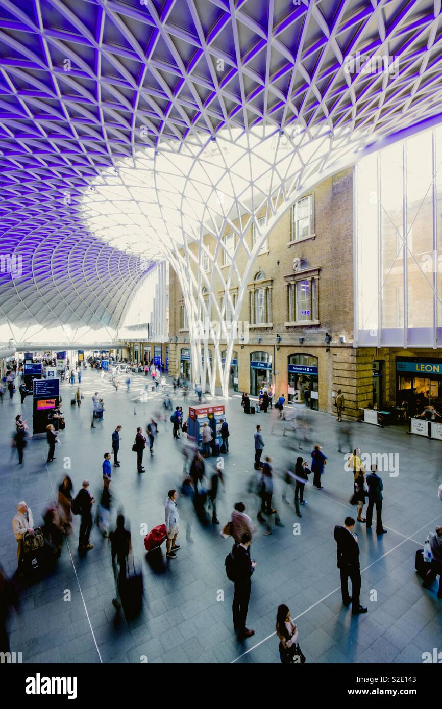
[[[63,250],[58,230],[75,248],[90,239],[89,252],[109,250],[109,266],[84,269],[88,249],[77,248],[81,289],[70,259],[57,272],[47,258],[42,273],[34,258],[27,281],[1,277],[5,318],[119,323],[143,259],[167,259],[191,323],[207,313],[223,320],[226,306],[236,320],[255,256],[292,201],[441,113],[440,0],[0,0],[0,8],[2,250],[29,249],[37,235],[46,252]],[[222,268],[226,229],[236,246]],[[210,277],[203,235],[213,240]],[[214,274],[225,286],[221,306]],[[226,303],[233,274],[235,308]],[[57,280],[59,309],[45,291]],[[100,310],[93,287],[105,283]],[[214,391],[218,372],[226,394],[234,337],[223,362],[213,334],[192,331],[194,376],[207,374]]]

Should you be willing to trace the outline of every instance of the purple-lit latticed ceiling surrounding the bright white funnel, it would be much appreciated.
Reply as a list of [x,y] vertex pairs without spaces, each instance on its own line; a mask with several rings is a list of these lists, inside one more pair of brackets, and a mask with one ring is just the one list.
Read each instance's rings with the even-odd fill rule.
[[379,140],[441,113],[441,37],[441,0],[0,0],[0,322],[118,325],[145,263],[82,224],[103,169],[229,128]]

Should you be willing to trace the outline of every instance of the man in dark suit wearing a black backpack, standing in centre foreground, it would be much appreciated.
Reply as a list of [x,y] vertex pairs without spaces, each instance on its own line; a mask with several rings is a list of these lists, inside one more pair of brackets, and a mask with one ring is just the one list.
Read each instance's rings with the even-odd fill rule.
[[252,588],[252,574],[256,568],[255,560],[250,559],[250,535],[243,534],[240,544],[234,544],[232,548],[234,584],[233,593],[233,627],[241,642],[248,637],[255,635],[255,630],[247,627],[248,602]]

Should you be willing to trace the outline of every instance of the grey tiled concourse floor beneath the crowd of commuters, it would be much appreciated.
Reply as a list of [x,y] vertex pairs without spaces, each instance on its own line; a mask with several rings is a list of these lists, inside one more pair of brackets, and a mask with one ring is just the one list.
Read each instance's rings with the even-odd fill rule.
[[[161,410],[162,393],[150,393],[147,403],[133,398],[143,389],[143,375],[132,375],[131,393],[121,376],[118,393],[101,374],[88,369],[82,377],[82,407],[70,406],[76,386],[61,384],[62,410],[66,428],[60,433],[56,460],[46,464],[48,445],[43,439],[29,440],[25,462],[18,465],[11,452],[14,419],[22,411],[31,424],[32,398],[23,407],[18,393],[9,401],[6,391],[0,406],[3,456],[0,461],[0,562],[11,576],[16,570],[16,541],[11,520],[18,501],[31,507],[34,525],[38,526],[45,506],[54,499],[65,472],[70,474],[77,493],[84,478],[90,491],[99,499],[102,489],[103,454],[111,450],[111,433],[121,424],[121,467],[112,467],[111,528],[119,508],[131,523],[135,563],[143,569],[143,611],[136,620],[126,623],[117,615],[111,601],[115,596],[109,540],[94,526],[91,541],[94,549],[79,555],[79,518],[68,537],[55,571],[42,581],[23,590],[18,614],[9,621],[11,652],[21,652],[23,662],[279,662],[278,640],[274,635],[277,606],[289,606],[299,628],[299,644],[307,662],[338,663],[421,663],[423,652],[441,646],[442,600],[436,596],[437,583],[429,591],[422,588],[414,571],[416,549],[423,547],[428,532],[442,525],[442,503],[438,486],[442,482],[441,446],[437,440],[407,435],[405,428],[375,428],[364,423],[337,423],[332,415],[313,412],[315,432],[312,438],[323,446],[328,464],[323,477],[324,490],[306,489],[302,520],[295,516],[293,487],[290,504],[281,501],[282,479],[275,481],[273,505],[284,527],[272,527],[272,535],[258,531],[253,537],[252,556],[258,566],[252,578],[248,627],[255,635],[238,642],[233,632],[231,603],[233,584],[226,578],[224,559],[232,540],[224,540],[220,526],[202,527],[178,499],[181,549],[177,559],[165,559],[162,546],[160,564],[150,564],[143,545],[144,528],[150,530],[164,523],[167,491],[179,489],[182,481],[182,441],[172,439],[170,412],[160,423],[154,455],[144,454],[145,474],[136,470],[136,454],[131,447],[137,426]],[[150,379],[150,378],[149,378]],[[170,380],[168,379],[168,382]],[[150,381],[149,381],[150,384]],[[173,396],[182,404],[182,394]],[[18,387],[17,387],[18,388]],[[150,389],[150,386],[149,386]],[[92,394],[104,398],[102,423],[91,429]],[[193,397],[192,397],[193,399]],[[226,489],[218,503],[221,527],[230,519],[233,504],[243,501],[256,522],[258,498],[248,492],[253,475],[253,432],[262,425],[265,454],[272,457],[275,471],[283,474],[297,454],[310,462],[309,451],[298,453],[282,430],[270,434],[270,411],[244,415],[238,395],[226,401],[226,419],[231,432],[230,452],[223,457]],[[134,415],[134,406],[136,415]],[[184,408],[184,407],[183,407]],[[185,411],[185,410],[184,410]],[[185,413],[187,413],[185,411]],[[383,522],[388,533],[377,536],[357,523],[362,571],[361,603],[368,606],[365,615],[351,615],[343,607],[339,571],[336,568],[336,543],[333,527],[342,524],[346,515],[355,515],[349,504],[353,493],[353,475],[344,471],[344,456],[337,452],[339,426],[348,425],[353,445],[363,453],[399,455],[399,475],[381,473],[384,482]],[[30,426],[31,428],[31,426]],[[287,446],[292,445],[290,449]],[[66,457],[70,469],[65,469]],[[206,471],[216,462],[206,461]],[[55,491],[55,492],[54,492]],[[366,508],[365,508],[366,510]],[[187,520],[191,530],[187,538]],[[294,523],[300,522],[300,534]],[[67,594],[66,591],[70,591]],[[223,593],[221,593],[223,591]],[[375,593],[376,592],[376,593]],[[64,600],[70,595],[70,600]],[[222,600],[223,599],[223,600]],[[370,600],[376,599],[376,600]]]

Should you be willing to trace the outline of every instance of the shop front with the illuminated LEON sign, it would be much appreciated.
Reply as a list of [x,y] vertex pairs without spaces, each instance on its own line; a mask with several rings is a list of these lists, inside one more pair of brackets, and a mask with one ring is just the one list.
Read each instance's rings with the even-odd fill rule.
[[442,414],[442,359],[396,357],[396,406],[415,417],[430,405]]

